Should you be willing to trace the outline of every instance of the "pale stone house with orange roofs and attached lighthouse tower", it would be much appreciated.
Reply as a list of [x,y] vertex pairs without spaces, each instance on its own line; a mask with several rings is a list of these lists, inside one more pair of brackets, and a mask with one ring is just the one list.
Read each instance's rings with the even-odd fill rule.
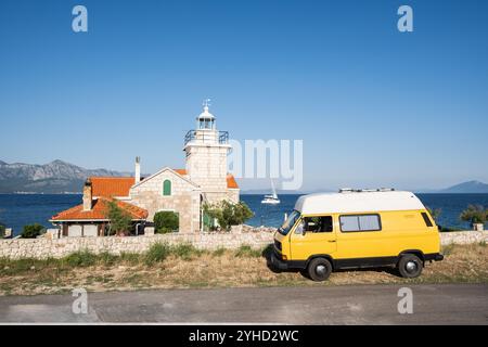
[[229,134],[216,128],[208,104],[196,118],[196,129],[184,137],[185,168],[164,167],[141,178],[140,158],[136,158],[134,177],[90,177],[84,187],[82,204],[59,213],[51,222],[64,236],[103,235],[108,220],[104,208],[115,200],[131,217],[133,233],[143,232],[158,211],[175,211],[180,232],[204,230],[203,205],[240,200],[240,189],[227,171],[231,150]]

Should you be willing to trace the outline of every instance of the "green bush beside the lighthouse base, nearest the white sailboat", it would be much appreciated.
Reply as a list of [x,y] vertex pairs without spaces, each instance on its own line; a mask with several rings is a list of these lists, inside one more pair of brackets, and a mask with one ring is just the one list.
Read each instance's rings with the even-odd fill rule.
[[239,202],[235,204],[227,200],[217,204],[205,204],[204,213],[210,218],[217,219],[223,230],[230,230],[231,226],[242,224],[254,216],[245,203]]

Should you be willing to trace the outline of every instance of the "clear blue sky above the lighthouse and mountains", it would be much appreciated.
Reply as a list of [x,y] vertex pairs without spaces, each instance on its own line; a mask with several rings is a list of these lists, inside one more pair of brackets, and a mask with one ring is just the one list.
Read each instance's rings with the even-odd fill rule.
[[234,139],[303,139],[304,189],[488,182],[488,2],[0,2],[4,162],[183,167],[204,98]]

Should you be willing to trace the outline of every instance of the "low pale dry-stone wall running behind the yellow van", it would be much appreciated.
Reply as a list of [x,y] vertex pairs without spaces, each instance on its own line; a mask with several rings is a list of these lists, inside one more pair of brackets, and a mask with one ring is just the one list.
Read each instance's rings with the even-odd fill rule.
[[[142,253],[156,242],[168,244],[191,243],[200,249],[239,248],[241,245],[249,245],[261,248],[272,243],[274,229],[256,228],[247,226],[240,228],[244,232],[232,233],[175,233],[151,236],[128,237],[64,237],[50,239],[13,239],[0,240],[0,258],[61,258],[73,252],[88,249],[93,253],[108,252],[120,254],[121,252]],[[251,231],[252,230],[252,231]],[[488,231],[475,232],[448,232],[440,234],[441,244],[467,244],[488,242]]]

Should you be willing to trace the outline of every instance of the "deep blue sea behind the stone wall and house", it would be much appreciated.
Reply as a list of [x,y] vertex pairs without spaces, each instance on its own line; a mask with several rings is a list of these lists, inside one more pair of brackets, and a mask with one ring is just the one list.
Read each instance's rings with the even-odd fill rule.
[[[424,205],[441,213],[437,223],[445,228],[466,230],[467,222],[461,221],[459,215],[467,205],[488,207],[488,194],[416,194]],[[262,195],[242,194],[241,200],[254,211],[255,216],[246,223],[255,227],[279,227],[284,214],[293,210],[300,195],[280,195],[281,204],[262,205]],[[79,194],[0,194],[0,222],[13,228],[14,235],[22,232],[26,224],[40,223],[52,227],[49,219],[59,211],[81,203]]]

